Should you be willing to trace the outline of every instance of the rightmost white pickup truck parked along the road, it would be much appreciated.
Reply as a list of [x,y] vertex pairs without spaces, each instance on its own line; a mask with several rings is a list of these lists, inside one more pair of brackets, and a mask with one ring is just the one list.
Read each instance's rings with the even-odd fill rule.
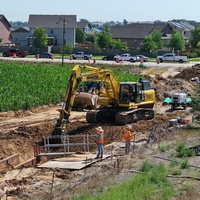
[[174,62],[187,62],[187,56],[176,56],[174,53],[166,53],[163,56],[157,56],[157,60],[161,63],[163,61],[174,61]]

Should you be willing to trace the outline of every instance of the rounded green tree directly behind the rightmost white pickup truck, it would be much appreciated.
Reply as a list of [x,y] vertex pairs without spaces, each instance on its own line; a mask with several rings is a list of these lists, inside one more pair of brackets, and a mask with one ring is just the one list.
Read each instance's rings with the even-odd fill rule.
[[185,40],[183,39],[183,36],[178,33],[175,29],[172,30],[172,37],[169,41],[168,47],[175,51],[177,50],[184,50],[185,48]]

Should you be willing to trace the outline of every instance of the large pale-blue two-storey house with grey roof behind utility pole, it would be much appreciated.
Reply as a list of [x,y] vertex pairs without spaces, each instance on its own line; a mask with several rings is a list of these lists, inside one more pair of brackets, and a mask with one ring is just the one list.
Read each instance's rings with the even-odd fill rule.
[[29,15],[29,39],[31,45],[33,30],[44,27],[48,35],[49,46],[59,46],[70,43],[75,46],[76,15]]

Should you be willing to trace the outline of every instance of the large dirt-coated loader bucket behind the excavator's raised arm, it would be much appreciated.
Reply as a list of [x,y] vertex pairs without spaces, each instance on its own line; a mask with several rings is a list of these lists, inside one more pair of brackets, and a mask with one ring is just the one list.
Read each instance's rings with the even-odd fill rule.
[[77,92],[73,108],[97,108],[98,95],[90,94],[87,92]]

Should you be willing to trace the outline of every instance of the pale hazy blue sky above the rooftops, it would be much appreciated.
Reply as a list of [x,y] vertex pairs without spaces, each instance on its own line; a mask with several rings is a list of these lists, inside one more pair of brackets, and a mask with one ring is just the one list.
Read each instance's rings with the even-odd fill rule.
[[94,21],[200,22],[200,0],[4,0],[0,14],[8,21],[28,21],[29,14],[76,15]]

